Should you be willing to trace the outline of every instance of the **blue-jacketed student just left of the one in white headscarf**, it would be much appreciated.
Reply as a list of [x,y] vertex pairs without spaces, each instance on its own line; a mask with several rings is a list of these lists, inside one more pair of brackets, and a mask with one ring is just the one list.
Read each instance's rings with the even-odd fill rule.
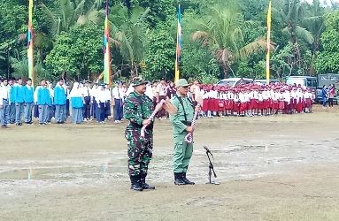
[[65,99],[64,80],[59,79],[58,84],[54,88],[55,118],[57,124],[65,123]]

